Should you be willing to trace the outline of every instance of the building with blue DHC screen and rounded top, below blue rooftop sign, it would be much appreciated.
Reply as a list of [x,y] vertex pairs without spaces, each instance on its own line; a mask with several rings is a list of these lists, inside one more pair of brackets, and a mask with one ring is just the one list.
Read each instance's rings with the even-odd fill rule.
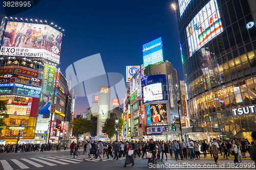
[[[161,135],[179,118],[177,100],[181,99],[179,72],[168,62],[148,65],[141,80],[146,134],[154,140],[174,140],[179,134]],[[180,109],[181,110],[181,109]]]

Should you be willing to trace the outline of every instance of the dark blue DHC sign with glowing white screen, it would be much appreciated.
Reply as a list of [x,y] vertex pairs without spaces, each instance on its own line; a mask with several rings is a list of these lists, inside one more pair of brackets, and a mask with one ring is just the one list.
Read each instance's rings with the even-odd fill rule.
[[168,100],[165,75],[152,75],[141,80],[143,103]]

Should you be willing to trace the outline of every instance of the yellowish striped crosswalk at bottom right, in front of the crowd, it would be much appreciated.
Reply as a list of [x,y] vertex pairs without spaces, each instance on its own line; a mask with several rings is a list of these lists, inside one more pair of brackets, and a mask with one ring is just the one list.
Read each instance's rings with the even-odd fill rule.
[[[165,164],[164,168],[168,169],[225,169],[225,168],[238,168],[238,169],[255,169],[255,162],[250,159],[244,159],[242,163],[234,164],[233,158],[228,160],[220,159],[216,164],[214,159],[200,159],[200,160],[190,160],[183,159],[176,161],[174,158],[163,160]],[[240,161],[239,161],[240,162]]]

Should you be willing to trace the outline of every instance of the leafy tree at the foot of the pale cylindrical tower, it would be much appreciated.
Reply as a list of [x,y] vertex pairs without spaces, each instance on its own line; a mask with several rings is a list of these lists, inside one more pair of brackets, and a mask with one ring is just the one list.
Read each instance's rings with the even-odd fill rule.
[[[106,118],[102,127],[102,133],[108,134],[108,137],[110,139],[114,136],[114,134],[116,134],[115,120],[116,120],[115,117]],[[121,117],[119,117],[119,122],[117,124],[117,131],[121,131],[123,126],[124,126],[124,121]]]

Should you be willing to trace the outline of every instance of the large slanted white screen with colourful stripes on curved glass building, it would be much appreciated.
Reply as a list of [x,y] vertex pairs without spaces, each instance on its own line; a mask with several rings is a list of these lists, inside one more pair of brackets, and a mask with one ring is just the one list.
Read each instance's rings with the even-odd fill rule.
[[211,0],[186,27],[189,56],[223,31],[216,0]]

